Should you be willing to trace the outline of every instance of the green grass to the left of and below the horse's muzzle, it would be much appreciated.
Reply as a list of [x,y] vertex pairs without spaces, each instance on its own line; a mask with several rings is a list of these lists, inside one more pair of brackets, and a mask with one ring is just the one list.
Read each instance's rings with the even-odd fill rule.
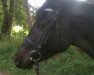
[[[9,38],[8,38],[9,39]],[[21,38],[4,38],[0,41],[0,72],[4,71],[6,75],[31,75],[31,70],[20,70],[14,65],[14,55],[21,43]]]

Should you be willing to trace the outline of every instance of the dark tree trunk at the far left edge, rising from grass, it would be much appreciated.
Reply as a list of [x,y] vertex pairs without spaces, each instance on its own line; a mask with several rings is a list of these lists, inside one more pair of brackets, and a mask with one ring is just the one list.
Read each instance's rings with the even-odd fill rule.
[[14,13],[14,0],[10,0],[10,6],[8,9],[7,0],[1,0],[4,12],[4,21],[1,29],[1,34],[10,35],[12,28],[12,19]]

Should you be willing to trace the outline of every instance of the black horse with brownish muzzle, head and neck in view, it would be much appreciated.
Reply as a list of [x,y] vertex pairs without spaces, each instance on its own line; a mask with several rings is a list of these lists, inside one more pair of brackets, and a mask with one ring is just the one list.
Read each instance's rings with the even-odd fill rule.
[[94,58],[94,4],[78,0],[46,0],[36,14],[36,22],[19,48],[15,62],[31,68],[64,52],[70,45]]

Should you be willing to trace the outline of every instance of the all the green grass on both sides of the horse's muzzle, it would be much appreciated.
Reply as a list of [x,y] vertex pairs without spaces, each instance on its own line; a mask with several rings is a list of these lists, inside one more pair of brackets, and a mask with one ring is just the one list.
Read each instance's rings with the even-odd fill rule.
[[[7,75],[35,75],[34,69],[21,70],[15,67],[14,55],[21,39],[0,41],[0,71]],[[66,52],[40,63],[40,75],[94,75],[94,60],[71,46]]]

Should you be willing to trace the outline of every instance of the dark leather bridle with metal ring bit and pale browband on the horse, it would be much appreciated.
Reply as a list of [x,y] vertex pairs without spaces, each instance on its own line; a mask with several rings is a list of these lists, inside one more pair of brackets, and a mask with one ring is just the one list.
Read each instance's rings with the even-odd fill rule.
[[[59,23],[58,23],[58,11],[54,11],[51,8],[47,8],[45,9],[45,11],[50,12],[55,14],[55,17],[52,19],[51,23],[50,23],[50,27],[48,28],[48,30],[45,32],[44,36],[42,37],[40,43],[38,45],[36,45],[32,40],[30,40],[30,38],[26,38],[26,41],[32,45],[32,47],[34,47],[35,49],[30,51],[29,55],[32,55],[34,53],[37,53],[39,55],[39,57],[37,59],[34,59],[32,57],[30,57],[30,61],[33,61],[35,63],[35,70],[36,70],[36,75],[39,75],[39,61],[41,59],[41,53],[39,52],[39,50],[42,48],[42,46],[46,43],[48,37],[50,36],[50,34],[52,33],[53,29],[56,26],[57,29],[57,40],[59,42]],[[56,25],[53,25],[53,23],[56,21]]]

